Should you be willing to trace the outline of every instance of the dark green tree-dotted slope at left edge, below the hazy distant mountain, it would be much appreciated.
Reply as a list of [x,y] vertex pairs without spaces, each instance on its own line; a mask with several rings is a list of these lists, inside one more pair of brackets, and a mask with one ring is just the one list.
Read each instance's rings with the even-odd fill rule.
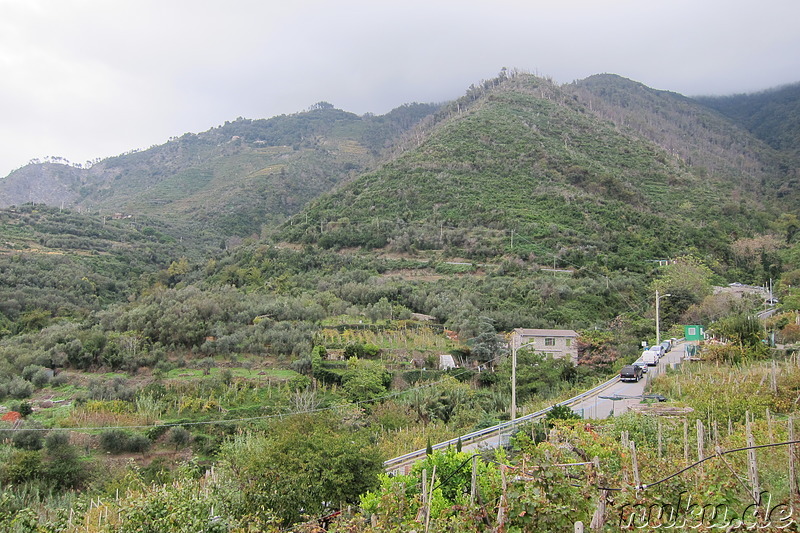
[[26,204],[0,210],[0,337],[126,301],[191,253],[153,220]]

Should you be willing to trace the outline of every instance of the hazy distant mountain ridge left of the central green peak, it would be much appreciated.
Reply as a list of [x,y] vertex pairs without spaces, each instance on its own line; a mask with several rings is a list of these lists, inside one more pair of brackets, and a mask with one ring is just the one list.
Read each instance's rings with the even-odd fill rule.
[[271,119],[237,119],[89,168],[28,165],[0,181],[0,206],[27,202],[154,215],[187,236],[258,234],[337,183],[370,169],[435,106],[359,117],[321,102]]

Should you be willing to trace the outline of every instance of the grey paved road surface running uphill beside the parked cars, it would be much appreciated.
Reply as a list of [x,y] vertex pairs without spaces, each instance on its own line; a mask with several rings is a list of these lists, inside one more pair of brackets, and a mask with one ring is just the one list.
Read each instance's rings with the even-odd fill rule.
[[[630,409],[632,404],[642,401],[641,395],[645,390],[648,380],[653,379],[661,372],[666,372],[669,365],[680,363],[686,352],[686,343],[679,343],[672,347],[662,357],[657,366],[647,367],[645,379],[639,382],[619,381],[608,387],[593,398],[575,404],[572,410],[582,414],[583,418],[608,418],[610,414],[615,416],[624,414]],[[620,397],[619,400],[610,400],[608,397]]]

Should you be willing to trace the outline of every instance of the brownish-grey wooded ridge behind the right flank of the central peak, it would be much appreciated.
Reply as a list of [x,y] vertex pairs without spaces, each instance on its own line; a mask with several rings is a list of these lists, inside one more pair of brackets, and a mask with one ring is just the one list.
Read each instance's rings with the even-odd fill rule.
[[[718,113],[709,105],[717,99],[691,99],[613,74],[590,76],[565,89],[620,130],[648,139],[695,176],[715,182],[727,196],[800,205],[793,195],[796,165],[788,161],[792,150],[800,148],[798,139],[773,143],[745,121]],[[795,127],[790,113],[773,119],[782,128]]]

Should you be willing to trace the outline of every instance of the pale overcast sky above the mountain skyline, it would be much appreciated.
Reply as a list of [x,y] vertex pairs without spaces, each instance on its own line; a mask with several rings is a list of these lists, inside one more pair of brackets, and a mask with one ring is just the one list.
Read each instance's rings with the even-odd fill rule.
[[800,81],[798,0],[0,0],[0,176],[325,100],[382,114],[518,68],[656,89]]

